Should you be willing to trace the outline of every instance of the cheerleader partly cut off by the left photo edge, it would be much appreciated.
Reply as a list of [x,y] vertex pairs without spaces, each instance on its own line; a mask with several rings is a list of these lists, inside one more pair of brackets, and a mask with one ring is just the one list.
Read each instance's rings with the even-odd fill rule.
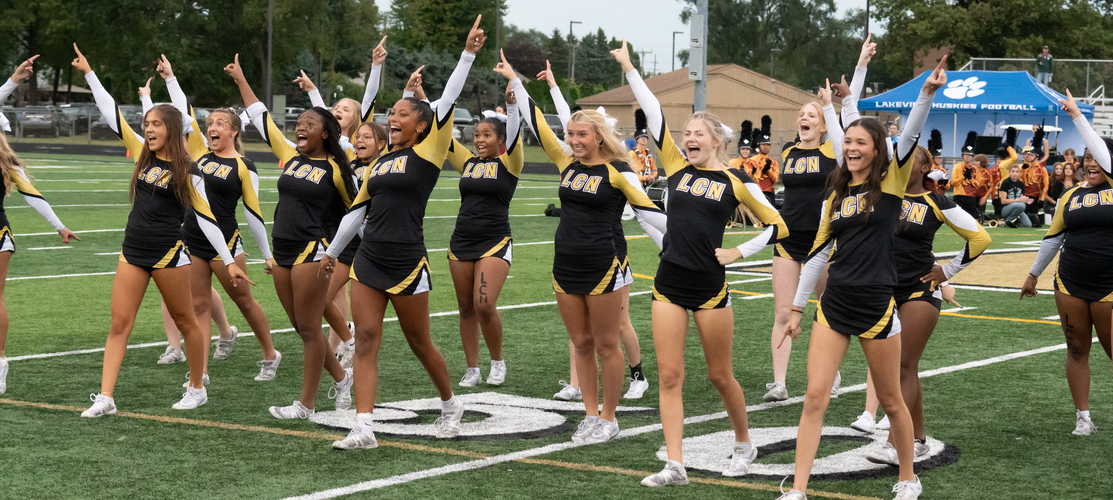
[[[31,56],[21,62],[11,78],[4,81],[3,86],[0,86],[0,102],[3,102],[19,87],[20,81],[32,75],[31,65],[38,58],[39,56]],[[7,122],[4,124],[6,130],[8,130]],[[81,241],[73,235],[72,231],[66,228],[55,215],[50,204],[31,184],[27,167],[16,156],[16,151],[11,150],[3,131],[0,131],[0,174],[3,175],[4,195],[11,194],[11,188],[14,187],[20,195],[23,195],[27,204],[35,208],[62,236],[62,243],[69,245],[73,239]],[[8,359],[4,356],[4,344],[8,341],[8,306],[3,301],[3,284],[8,280],[8,264],[11,262],[11,254],[16,253],[16,241],[8,226],[3,197],[0,197],[0,227],[2,227],[0,229],[0,394],[3,394],[8,390]]]

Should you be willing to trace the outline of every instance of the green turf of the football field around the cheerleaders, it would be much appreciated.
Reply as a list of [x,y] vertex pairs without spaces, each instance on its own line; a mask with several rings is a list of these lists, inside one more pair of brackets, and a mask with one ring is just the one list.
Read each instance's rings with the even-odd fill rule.
[[[18,280],[111,272],[117,262],[129,207],[126,188],[131,165],[124,158],[26,155],[38,187],[61,219],[79,232],[81,242],[67,249],[60,238],[26,206],[20,197],[7,199],[8,217],[16,233],[18,252],[9,271],[6,300],[11,317],[7,354],[29,354],[98,349],[104,346],[110,322],[111,275]],[[277,200],[276,170],[265,170],[262,202],[270,214]],[[556,202],[555,175],[524,176],[513,215],[540,214]],[[425,220],[426,247],[433,272],[430,310],[452,312],[456,302],[445,253],[459,210],[456,176],[445,171],[434,190]],[[539,198],[539,199],[535,199]],[[439,202],[442,199],[444,202]],[[68,207],[66,205],[86,205]],[[87,205],[112,205],[90,207]],[[443,217],[443,218],[435,218]],[[269,218],[269,216],[267,217]],[[550,217],[512,217],[514,264],[500,298],[501,305],[553,301],[550,286],[552,245],[521,245],[549,242],[556,227]],[[636,222],[626,223],[629,236],[641,235]],[[752,229],[751,229],[752,231]],[[730,233],[742,232],[739,228]],[[1009,242],[1042,237],[1038,229],[989,229],[993,248],[1015,248]],[[244,232],[245,248],[257,254],[250,232]],[[728,244],[749,235],[730,234]],[[962,241],[948,229],[936,238],[936,251],[956,251]],[[1033,251],[1034,247],[1031,247]],[[97,255],[106,254],[106,255]],[[657,248],[648,238],[632,238],[630,255],[634,272],[653,275]],[[1031,254],[1034,258],[1034,252]],[[752,259],[768,259],[768,251]],[[987,255],[972,265],[993,266]],[[1024,268],[1001,269],[998,286],[1016,286]],[[269,276],[258,264],[248,265],[258,283],[253,288],[272,329],[287,329],[288,321],[275,296]],[[754,276],[731,275],[732,280]],[[1042,282],[1048,287],[1050,282]],[[632,292],[650,290],[651,282],[636,278]],[[771,292],[768,281],[745,283],[733,290],[750,294]],[[769,330],[772,324],[770,298],[740,300],[736,294],[735,375],[747,401],[760,403],[765,383],[771,379]],[[962,314],[1028,320],[986,320],[944,315],[920,362],[920,370],[952,366],[992,356],[1055,345],[1063,342],[1060,327],[1044,317],[1056,314],[1050,295],[1017,302],[1016,294],[959,290],[959,302],[977,307]],[[165,341],[154,286],[139,312],[132,344]],[[247,326],[230,302],[225,304],[233,324]],[[810,314],[810,313],[809,313]],[[393,316],[393,312],[387,312]],[[650,300],[631,298],[631,320],[641,339],[643,365],[651,382],[646,396],[634,403],[657,408],[657,367],[650,329]],[[480,385],[460,389],[460,394],[494,391],[549,399],[568,378],[568,336],[554,305],[504,310],[504,350],[508,381],[500,388]],[[807,329],[806,329],[807,332]],[[451,375],[463,374],[456,316],[432,318],[432,334],[444,353]],[[805,333],[805,336],[807,333]],[[806,342],[797,344],[789,365],[789,391],[800,395],[806,384]],[[568,441],[570,430],[531,439],[512,440],[424,440],[381,437],[374,451],[344,453],[328,448],[341,431],[308,421],[274,420],[266,408],[288,404],[301,388],[301,342],[293,333],[275,334],[284,353],[278,376],[273,382],[254,382],[255,362],[260,359],[257,343],[242,337],[227,361],[210,362],[213,385],[209,403],[198,410],[178,412],[170,404],[180,398],[185,364],[157,365],[162,347],[139,347],[129,352],[120,373],[116,400],[121,414],[96,420],[77,418],[88,406],[87,394],[97,392],[101,354],[14,361],[8,376],[8,392],[0,396],[0,463],[2,491],[8,498],[284,498],[339,488],[362,481],[391,478],[442,465],[464,463],[484,455],[499,455]],[[986,492],[1004,498],[1078,498],[1113,491],[1107,473],[1113,438],[1106,429],[1113,414],[1113,383],[1110,361],[1101,349],[1092,353],[1092,412],[1099,432],[1073,437],[1073,408],[1063,375],[1063,351],[995,363],[924,379],[927,433],[957,447],[961,455],[953,464],[923,471],[925,498],[964,499]],[[481,350],[481,369],[486,373],[486,350]],[[686,350],[688,376],[684,411],[689,416],[720,412],[722,404],[705,373],[698,337],[690,335]],[[327,378],[326,378],[327,379]],[[378,402],[397,402],[435,396],[424,370],[410,352],[396,323],[387,323],[381,354]],[[865,380],[860,349],[851,346],[843,364],[844,386]],[[317,408],[329,410],[322,384]],[[827,424],[848,425],[864,404],[864,392],[850,392],[834,400]],[[21,404],[16,404],[21,402]],[[22,403],[33,403],[39,406]],[[43,405],[58,405],[55,408]],[[751,429],[795,427],[799,404],[751,412]],[[573,412],[572,423],[579,421]],[[482,418],[470,412],[469,420]],[[160,420],[159,420],[160,419]],[[174,420],[188,419],[188,420]],[[422,422],[429,419],[423,418]],[[622,414],[623,429],[658,423],[656,414]],[[729,429],[723,419],[690,424],[686,437]],[[713,473],[690,471],[688,487],[648,490],[638,484],[641,472],[660,470],[656,452],[663,444],[660,432],[647,432],[612,443],[560,450],[530,461],[511,461],[396,484],[354,494],[355,498],[569,498],[581,496],[619,498],[740,498],[771,499],[776,481],[721,481]],[[847,450],[845,442],[825,442],[820,455]],[[759,463],[789,463],[792,451],[762,455]],[[811,482],[811,488],[847,496],[889,496],[892,474],[845,481]],[[65,478],[56,480],[55,478]],[[524,488],[523,488],[524,487]],[[759,488],[759,489],[754,489]],[[812,498],[823,498],[817,493]]]

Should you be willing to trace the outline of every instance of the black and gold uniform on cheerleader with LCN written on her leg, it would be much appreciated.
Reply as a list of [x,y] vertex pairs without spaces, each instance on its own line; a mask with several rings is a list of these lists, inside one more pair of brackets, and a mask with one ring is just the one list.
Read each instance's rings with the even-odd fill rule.
[[449,242],[449,258],[474,262],[498,257],[511,263],[510,202],[525,161],[516,105],[506,108],[506,150],[480,159],[453,139],[449,161],[460,173],[460,215]]

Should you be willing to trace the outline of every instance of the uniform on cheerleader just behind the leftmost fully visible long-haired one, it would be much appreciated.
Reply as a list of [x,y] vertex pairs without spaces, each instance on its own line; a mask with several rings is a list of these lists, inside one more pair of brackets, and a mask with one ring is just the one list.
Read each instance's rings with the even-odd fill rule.
[[[255,163],[244,157],[217,156],[205,144],[205,137],[199,131],[200,126],[196,118],[193,120],[193,127],[195,131],[187,135],[186,146],[205,179],[205,194],[208,196],[213,215],[216,216],[217,226],[227,242],[228,251],[233,256],[244,253],[244,241],[239,234],[239,224],[236,222],[236,204],[243,199],[247,226],[255,236],[259,252],[264,259],[272,258],[270,242],[259,208],[259,175],[255,169]],[[190,255],[206,261],[218,257],[216,249],[197,225],[196,216],[186,217],[183,235]]]

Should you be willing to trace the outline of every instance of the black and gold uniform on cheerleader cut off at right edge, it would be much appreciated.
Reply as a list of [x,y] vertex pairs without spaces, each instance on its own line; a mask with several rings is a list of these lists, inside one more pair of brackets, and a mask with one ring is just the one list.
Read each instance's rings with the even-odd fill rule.
[[1040,254],[1030,273],[1043,274],[1058,253],[1057,292],[1086,302],[1113,302],[1113,252],[1110,251],[1113,187],[1109,178],[1097,186],[1067,189],[1056,206],[1051,228],[1040,244]]

